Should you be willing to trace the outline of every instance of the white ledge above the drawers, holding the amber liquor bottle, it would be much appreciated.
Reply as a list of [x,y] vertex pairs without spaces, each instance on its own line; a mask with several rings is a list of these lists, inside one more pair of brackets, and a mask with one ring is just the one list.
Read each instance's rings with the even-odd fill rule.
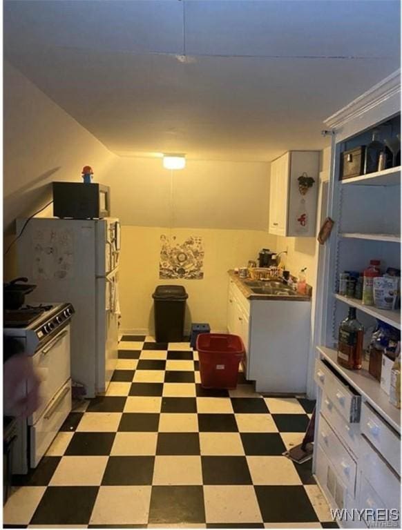
[[349,384],[361,393],[376,411],[399,433],[401,432],[401,410],[396,409],[389,401],[387,394],[381,389],[379,382],[367,370],[347,370],[336,361],[337,353],[332,348],[318,346],[321,355],[341,373]]

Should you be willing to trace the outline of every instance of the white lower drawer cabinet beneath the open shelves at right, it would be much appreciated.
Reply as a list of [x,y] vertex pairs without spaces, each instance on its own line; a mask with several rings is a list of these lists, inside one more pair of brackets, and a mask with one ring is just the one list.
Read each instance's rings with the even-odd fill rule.
[[315,379],[314,472],[330,507],[347,510],[336,522],[342,528],[390,527],[392,510],[401,509],[399,433],[326,360],[316,361]]

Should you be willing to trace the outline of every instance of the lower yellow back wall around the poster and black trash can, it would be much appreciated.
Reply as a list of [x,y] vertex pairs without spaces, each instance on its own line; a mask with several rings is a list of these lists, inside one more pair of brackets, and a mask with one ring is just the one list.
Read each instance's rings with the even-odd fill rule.
[[260,248],[274,248],[276,237],[262,230],[222,230],[178,228],[172,230],[179,241],[189,235],[204,242],[204,279],[160,280],[160,235],[169,228],[123,226],[120,268],[120,305],[123,332],[145,332],[153,328],[151,295],[158,284],[184,285],[189,293],[186,327],[193,322],[209,322],[214,331],[226,331],[227,271],[256,259]]

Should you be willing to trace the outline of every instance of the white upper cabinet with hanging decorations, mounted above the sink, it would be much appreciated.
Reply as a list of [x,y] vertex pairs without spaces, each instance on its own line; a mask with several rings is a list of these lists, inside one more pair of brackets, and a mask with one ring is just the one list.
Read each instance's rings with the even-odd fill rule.
[[318,151],[288,151],[271,162],[269,233],[316,235],[319,156]]

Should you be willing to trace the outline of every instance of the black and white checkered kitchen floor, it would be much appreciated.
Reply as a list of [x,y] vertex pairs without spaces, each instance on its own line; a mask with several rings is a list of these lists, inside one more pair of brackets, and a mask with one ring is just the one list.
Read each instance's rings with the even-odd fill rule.
[[106,396],[71,413],[4,509],[6,526],[329,528],[300,443],[313,402],[200,386],[188,343],[125,336]]

